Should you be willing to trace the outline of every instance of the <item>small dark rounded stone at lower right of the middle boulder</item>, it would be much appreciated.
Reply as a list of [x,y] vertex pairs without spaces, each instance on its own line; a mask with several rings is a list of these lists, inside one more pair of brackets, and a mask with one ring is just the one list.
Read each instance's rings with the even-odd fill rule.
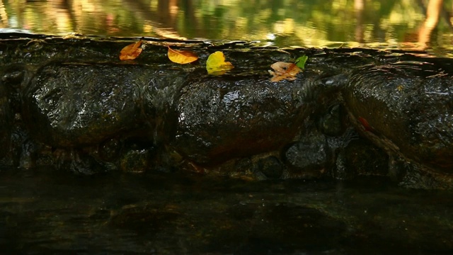
[[309,132],[283,152],[290,177],[311,178],[326,173],[328,167],[326,137],[319,132]]

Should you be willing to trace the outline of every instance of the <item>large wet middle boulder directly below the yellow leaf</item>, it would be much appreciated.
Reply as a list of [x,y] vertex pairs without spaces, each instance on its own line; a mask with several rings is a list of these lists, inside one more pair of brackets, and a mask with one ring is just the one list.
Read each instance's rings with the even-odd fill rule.
[[311,81],[268,78],[192,77],[178,100],[173,147],[197,164],[216,164],[293,140],[311,111]]

